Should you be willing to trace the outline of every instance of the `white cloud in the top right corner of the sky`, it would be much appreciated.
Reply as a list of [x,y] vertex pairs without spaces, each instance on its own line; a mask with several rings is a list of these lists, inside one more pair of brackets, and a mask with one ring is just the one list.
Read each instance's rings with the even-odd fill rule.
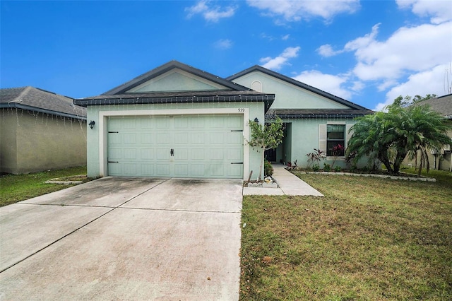
[[399,8],[411,8],[412,13],[421,17],[431,17],[430,22],[439,24],[452,20],[452,4],[449,0],[396,0]]

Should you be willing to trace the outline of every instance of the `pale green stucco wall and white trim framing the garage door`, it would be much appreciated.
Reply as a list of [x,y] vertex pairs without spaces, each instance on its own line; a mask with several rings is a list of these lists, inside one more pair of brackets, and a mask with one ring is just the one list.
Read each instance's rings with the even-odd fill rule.
[[[88,106],[87,121],[95,121],[94,129],[88,129],[88,176],[105,176],[106,167],[106,145],[107,145],[107,120],[108,114],[120,116],[143,116],[150,114],[223,114],[222,109],[228,109],[230,114],[244,114],[247,118],[244,122],[244,134],[249,132],[249,119],[264,120],[263,102],[212,102],[212,103],[184,103],[184,104],[159,104],[159,105],[102,105]],[[153,111],[156,112],[153,112]],[[159,113],[158,111],[163,113]],[[122,112],[122,113],[121,113]],[[248,178],[249,172],[253,170],[253,175],[258,175],[261,166],[261,150],[256,150],[246,146],[249,134],[244,137],[244,160],[249,167],[244,170],[244,178]],[[103,161],[103,162],[102,162]]]

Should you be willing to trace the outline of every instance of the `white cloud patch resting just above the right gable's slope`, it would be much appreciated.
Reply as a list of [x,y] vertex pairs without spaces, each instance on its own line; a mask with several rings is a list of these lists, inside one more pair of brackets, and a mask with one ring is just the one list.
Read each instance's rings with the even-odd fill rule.
[[[319,88],[320,90],[324,90],[333,95],[339,96],[340,98],[350,99],[352,97],[352,93],[347,88],[343,87],[348,80],[347,75],[331,75],[321,73],[320,71],[311,70],[311,71],[303,71],[298,76],[295,76],[294,79],[297,81],[301,81],[302,83],[307,83],[313,87]],[[359,90],[362,88],[362,85],[359,83],[354,83],[353,88]]]

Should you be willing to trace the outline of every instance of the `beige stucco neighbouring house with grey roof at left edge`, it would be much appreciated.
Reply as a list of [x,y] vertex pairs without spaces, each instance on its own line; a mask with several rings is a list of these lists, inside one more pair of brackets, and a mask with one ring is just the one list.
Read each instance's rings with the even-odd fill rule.
[[86,165],[86,109],[33,87],[0,89],[0,172]]

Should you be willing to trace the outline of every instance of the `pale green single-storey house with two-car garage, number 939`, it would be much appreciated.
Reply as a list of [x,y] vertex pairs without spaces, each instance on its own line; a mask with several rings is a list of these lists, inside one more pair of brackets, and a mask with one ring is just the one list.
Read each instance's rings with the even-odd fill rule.
[[108,92],[74,100],[88,108],[88,176],[258,175],[261,149],[249,146],[249,120],[270,108],[285,122],[275,160],[306,165],[307,153],[347,143],[364,107],[255,66],[220,78],[170,61]]

